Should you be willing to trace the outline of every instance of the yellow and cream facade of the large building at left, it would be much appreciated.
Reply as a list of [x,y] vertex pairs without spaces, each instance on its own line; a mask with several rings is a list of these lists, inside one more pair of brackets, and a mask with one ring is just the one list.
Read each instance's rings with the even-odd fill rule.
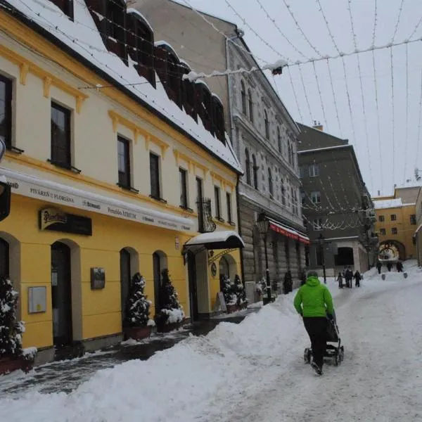
[[[241,274],[241,168],[227,141],[199,124],[191,135],[163,119],[5,11],[0,27],[0,84],[11,90],[11,138],[0,170],[12,188],[11,214],[0,223],[0,271],[20,293],[24,347],[37,347],[45,362],[54,346],[94,350],[120,341],[137,271],[151,317],[166,268],[186,317],[212,314],[220,276]],[[62,110],[68,167],[52,159],[54,116]],[[120,183],[121,165],[130,169],[129,186]],[[207,200],[216,191],[218,205]]]

